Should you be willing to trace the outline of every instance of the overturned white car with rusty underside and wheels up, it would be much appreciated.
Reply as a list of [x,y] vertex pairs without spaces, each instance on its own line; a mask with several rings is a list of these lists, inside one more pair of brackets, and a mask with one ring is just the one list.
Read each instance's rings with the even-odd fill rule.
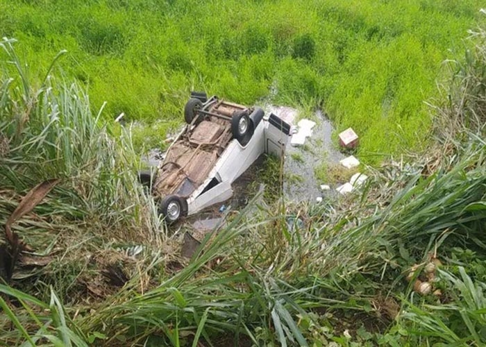
[[231,198],[231,184],[262,153],[283,155],[290,125],[261,108],[193,92],[184,109],[187,126],[167,149],[156,176],[140,173],[160,198],[168,223]]

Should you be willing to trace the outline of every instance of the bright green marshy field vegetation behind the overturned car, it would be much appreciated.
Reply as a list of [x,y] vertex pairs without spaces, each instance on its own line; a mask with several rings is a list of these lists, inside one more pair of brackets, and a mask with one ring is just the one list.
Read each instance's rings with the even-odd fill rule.
[[[361,136],[360,158],[417,149],[430,126],[445,58],[463,51],[480,0],[464,1],[8,1],[1,37],[15,37],[28,74],[62,69],[87,87],[97,112],[147,124],[158,146],[181,124],[190,90],[241,103],[270,97],[324,107],[338,130]],[[271,90],[276,90],[276,94]],[[159,120],[156,129],[149,129]]]

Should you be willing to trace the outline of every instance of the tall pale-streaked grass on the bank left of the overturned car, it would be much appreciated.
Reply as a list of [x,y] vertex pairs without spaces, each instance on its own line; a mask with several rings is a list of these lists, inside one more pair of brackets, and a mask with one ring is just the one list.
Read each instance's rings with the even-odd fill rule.
[[43,271],[20,266],[16,272],[19,286],[40,298],[50,295],[45,290],[52,285],[63,301],[76,301],[79,271],[90,267],[86,251],[96,254],[140,237],[156,246],[167,234],[151,198],[136,183],[138,160],[129,135],[114,138],[76,83],[48,70],[34,87],[13,44],[0,42],[16,70],[1,75],[0,135],[6,148],[0,155],[0,220],[6,222],[32,187],[60,178],[46,202],[14,226],[35,253],[53,260]]

